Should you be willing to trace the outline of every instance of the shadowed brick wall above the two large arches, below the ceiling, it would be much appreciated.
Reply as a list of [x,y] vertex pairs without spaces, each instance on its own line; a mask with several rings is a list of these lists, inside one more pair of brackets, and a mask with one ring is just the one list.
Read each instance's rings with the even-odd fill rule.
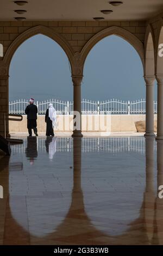
[[146,33],[146,21],[0,21],[0,44],[4,46],[4,54],[18,35],[39,25],[63,35],[74,52],[80,52],[93,35],[108,27],[124,28],[142,42]]

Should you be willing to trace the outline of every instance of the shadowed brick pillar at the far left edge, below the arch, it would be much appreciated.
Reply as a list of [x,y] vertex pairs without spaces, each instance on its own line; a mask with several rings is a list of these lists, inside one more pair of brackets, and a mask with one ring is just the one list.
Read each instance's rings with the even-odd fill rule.
[[[9,113],[9,76],[6,68],[0,67],[0,115],[3,117],[3,113]],[[9,133],[8,121],[6,122],[7,135]],[[0,121],[0,134],[4,136],[4,121]]]

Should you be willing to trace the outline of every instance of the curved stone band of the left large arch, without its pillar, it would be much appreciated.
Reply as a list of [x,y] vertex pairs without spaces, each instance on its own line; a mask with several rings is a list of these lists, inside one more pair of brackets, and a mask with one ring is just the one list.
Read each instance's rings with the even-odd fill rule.
[[65,51],[65,53],[67,54],[67,57],[70,60],[70,64],[72,66],[73,50],[72,50],[71,45],[68,44],[68,42],[66,41],[66,39],[64,39],[64,37],[62,35],[60,35],[57,32],[54,32],[53,29],[40,25],[40,26],[30,28],[27,31],[20,34],[19,36],[17,36],[17,38],[9,46],[9,48],[4,56],[4,62],[7,64],[8,69],[9,69],[9,65],[10,65],[12,56],[14,55],[17,48],[24,41],[26,41],[30,37],[37,35],[37,34],[46,35],[49,38],[53,39],[55,42],[57,42],[61,46],[61,48]]

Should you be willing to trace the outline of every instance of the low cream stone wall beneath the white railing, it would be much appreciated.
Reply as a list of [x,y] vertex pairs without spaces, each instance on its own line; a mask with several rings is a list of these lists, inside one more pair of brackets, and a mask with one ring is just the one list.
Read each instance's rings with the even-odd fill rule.
[[[72,131],[73,116],[58,115],[57,131]],[[82,131],[135,131],[135,121],[145,121],[145,115],[82,115]],[[155,115],[156,119],[156,115]],[[107,128],[106,128],[107,126]],[[45,116],[39,115],[37,120],[37,129],[40,132],[46,131]],[[107,129],[107,130],[105,130]],[[56,130],[56,129],[55,129]],[[23,115],[20,122],[9,121],[10,132],[27,132],[27,117]]]

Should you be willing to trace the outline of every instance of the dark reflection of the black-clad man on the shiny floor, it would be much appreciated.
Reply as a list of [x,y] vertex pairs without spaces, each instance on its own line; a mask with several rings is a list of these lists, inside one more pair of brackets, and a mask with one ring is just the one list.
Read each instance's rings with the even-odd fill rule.
[[27,148],[26,148],[26,157],[30,161],[30,165],[34,164],[34,160],[37,158],[37,138],[28,137],[27,138]]

